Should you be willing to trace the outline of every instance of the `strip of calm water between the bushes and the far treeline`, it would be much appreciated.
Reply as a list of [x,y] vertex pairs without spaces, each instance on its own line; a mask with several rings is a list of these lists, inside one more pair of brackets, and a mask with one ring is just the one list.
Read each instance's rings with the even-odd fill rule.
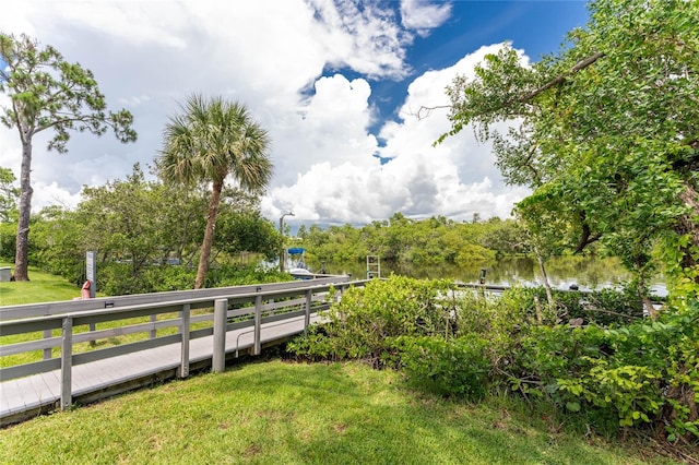
[[[320,266],[309,263],[313,271]],[[486,270],[486,284],[493,285],[541,285],[542,274],[536,260],[530,258],[507,258],[484,264],[474,263],[467,267],[461,266],[393,266],[381,263],[381,276],[391,273],[416,278],[450,278],[464,283],[476,283],[481,270]],[[366,276],[366,263],[325,264],[328,273],[352,273],[354,277]],[[599,259],[592,257],[564,257],[550,259],[546,262],[546,273],[552,287],[567,289],[577,284],[580,289],[599,289],[611,287],[630,281],[631,275],[617,260]],[[662,277],[653,281],[653,290],[664,295],[665,286]]]

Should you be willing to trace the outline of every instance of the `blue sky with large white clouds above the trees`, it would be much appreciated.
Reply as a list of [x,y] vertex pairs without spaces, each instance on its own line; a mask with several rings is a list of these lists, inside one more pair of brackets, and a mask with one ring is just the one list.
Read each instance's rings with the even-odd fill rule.
[[[69,153],[35,141],[35,210],[68,207],[82,186],[152,164],[168,117],[188,95],[245,104],[273,141],[262,213],[294,224],[366,224],[395,212],[455,220],[506,217],[507,187],[470,130],[438,147],[445,86],[505,41],[533,62],[584,26],[582,1],[2,0],[0,31],[26,33],[91,69],[139,141],[75,134]],[[0,95],[0,105],[7,105]],[[0,129],[0,166],[19,177],[15,132]]]

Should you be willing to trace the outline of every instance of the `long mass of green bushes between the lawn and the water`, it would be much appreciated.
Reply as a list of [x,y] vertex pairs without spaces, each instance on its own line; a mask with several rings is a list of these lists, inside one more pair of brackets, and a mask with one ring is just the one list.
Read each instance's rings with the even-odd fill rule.
[[[455,297],[445,282],[376,279],[347,290],[327,323],[289,350],[310,360],[401,368],[413,384],[440,395],[476,400],[506,385],[596,432],[647,428],[699,444],[699,302],[668,307],[656,321],[571,327],[555,324],[559,315],[542,318],[536,293]],[[619,308],[624,297],[613,293],[592,296],[618,313],[635,309],[633,302]],[[574,315],[579,293],[562,296]]]

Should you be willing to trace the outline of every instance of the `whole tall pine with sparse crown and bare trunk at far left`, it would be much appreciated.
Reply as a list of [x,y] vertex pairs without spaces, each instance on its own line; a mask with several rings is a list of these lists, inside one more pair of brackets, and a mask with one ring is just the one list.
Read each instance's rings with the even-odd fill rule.
[[47,148],[63,153],[73,130],[102,135],[111,128],[121,142],[135,141],[137,133],[131,128],[133,117],[129,111],[107,111],[105,96],[92,71],[66,61],[56,48],[42,48],[24,34],[16,37],[0,33],[0,59],[7,63],[0,69],[0,92],[11,102],[9,107],[0,108],[0,122],[16,128],[22,141],[14,273],[15,279],[26,281],[33,138],[52,130]]

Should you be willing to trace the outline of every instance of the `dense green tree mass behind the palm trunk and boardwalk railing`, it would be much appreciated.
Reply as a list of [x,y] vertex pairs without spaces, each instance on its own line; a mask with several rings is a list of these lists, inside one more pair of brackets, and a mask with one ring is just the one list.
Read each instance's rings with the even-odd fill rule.
[[[191,288],[210,196],[211,187],[204,183],[149,181],[135,164],[123,179],[83,187],[75,208],[54,205],[32,215],[29,260],[82,285],[85,251],[95,251],[98,290],[107,295]],[[0,222],[3,260],[14,251],[13,235],[7,234],[12,226]],[[260,216],[259,195],[225,189],[212,249],[217,271],[206,282],[232,285],[232,273],[246,269],[245,263],[248,278],[268,279],[250,259],[275,255],[279,247],[274,224]]]

